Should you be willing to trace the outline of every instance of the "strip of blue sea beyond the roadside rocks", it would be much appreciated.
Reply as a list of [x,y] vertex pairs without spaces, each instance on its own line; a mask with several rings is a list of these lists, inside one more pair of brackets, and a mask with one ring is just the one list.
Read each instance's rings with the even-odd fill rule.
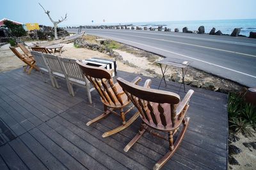
[[[249,23],[249,24],[248,24]],[[188,27],[191,31],[198,31],[198,27],[204,26],[205,32],[209,33],[212,27],[216,28],[216,31],[220,30],[223,34],[232,34],[232,31],[235,28],[241,28],[241,36],[250,36],[250,32],[256,32],[256,18],[250,19],[237,19],[237,20],[191,20],[191,21],[158,21],[158,22],[125,22],[125,23],[99,23],[99,24],[81,24],[81,25],[62,25],[62,27],[70,27],[70,28],[79,28],[82,27],[83,29],[89,28],[116,28],[116,27],[127,27],[132,29],[131,27],[150,27],[157,29],[159,26],[166,27],[167,29],[179,29],[182,31],[182,28]]]

